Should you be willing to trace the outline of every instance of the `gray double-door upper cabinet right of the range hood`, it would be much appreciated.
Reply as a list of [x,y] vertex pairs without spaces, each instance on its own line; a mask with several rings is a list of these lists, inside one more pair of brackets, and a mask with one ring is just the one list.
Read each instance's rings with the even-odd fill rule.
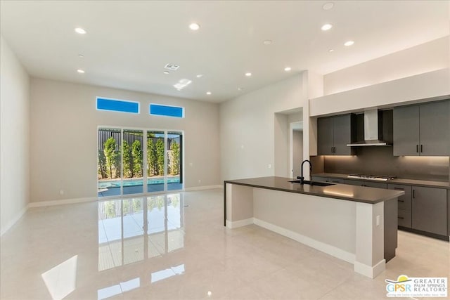
[[450,155],[450,101],[394,108],[394,155]]

